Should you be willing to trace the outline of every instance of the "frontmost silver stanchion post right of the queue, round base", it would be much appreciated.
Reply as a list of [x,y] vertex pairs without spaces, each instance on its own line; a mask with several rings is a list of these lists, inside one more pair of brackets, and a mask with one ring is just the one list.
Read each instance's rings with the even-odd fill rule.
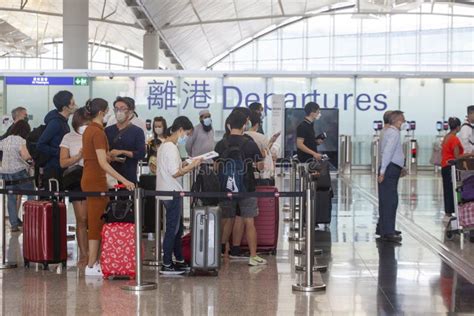
[[304,282],[293,284],[293,291],[299,292],[315,292],[326,289],[326,284],[315,284],[313,280],[313,264],[314,264],[314,218],[312,214],[313,195],[311,187],[306,188],[306,273]]

